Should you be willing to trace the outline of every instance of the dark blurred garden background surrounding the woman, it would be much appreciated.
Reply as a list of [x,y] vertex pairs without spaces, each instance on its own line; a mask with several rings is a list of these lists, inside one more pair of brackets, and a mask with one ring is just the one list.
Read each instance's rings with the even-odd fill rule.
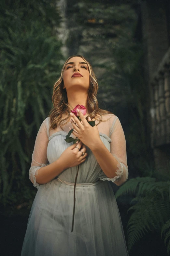
[[99,107],[125,133],[129,178],[111,185],[129,256],[169,255],[169,0],[1,0],[0,255],[21,255],[36,134],[74,54],[92,64]]

